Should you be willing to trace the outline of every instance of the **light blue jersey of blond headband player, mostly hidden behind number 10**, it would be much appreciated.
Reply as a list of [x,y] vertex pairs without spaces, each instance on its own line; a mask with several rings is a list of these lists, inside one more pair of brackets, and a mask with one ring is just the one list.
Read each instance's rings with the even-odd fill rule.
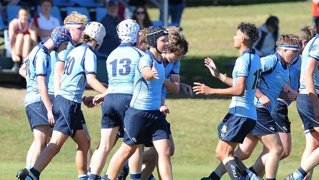
[[56,61],[62,61],[65,62],[66,57],[68,56],[69,52],[75,48],[75,46],[72,44],[72,42],[69,42],[68,47],[66,50],[63,50],[59,53],[52,51],[50,53],[51,57],[51,74],[49,77],[49,84],[48,84],[48,93],[54,95],[54,65]]

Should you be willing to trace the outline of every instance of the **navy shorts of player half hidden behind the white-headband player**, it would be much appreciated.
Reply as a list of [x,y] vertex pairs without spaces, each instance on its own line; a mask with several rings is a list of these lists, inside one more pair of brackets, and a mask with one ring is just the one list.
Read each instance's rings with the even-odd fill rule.
[[288,106],[285,103],[277,100],[275,108],[271,111],[271,117],[276,122],[278,132],[291,133]]

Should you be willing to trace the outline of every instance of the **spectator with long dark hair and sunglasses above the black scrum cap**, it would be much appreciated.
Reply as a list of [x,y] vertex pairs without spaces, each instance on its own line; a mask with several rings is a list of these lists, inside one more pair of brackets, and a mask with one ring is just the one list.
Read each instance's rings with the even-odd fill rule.
[[132,19],[138,23],[140,29],[143,29],[143,28],[150,29],[153,27],[153,24],[144,6],[136,7],[136,9],[133,12]]

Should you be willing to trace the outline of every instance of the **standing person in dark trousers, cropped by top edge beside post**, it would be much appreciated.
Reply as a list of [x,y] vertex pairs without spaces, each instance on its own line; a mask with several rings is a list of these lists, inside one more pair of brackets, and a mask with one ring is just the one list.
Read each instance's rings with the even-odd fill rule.
[[[159,1],[162,2],[163,0]],[[185,7],[185,0],[168,0],[168,16],[171,16],[172,23],[175,23],[174,26],[180,26]],[[163,20],[163,18],[163,11],[160,11],[160,20]]]

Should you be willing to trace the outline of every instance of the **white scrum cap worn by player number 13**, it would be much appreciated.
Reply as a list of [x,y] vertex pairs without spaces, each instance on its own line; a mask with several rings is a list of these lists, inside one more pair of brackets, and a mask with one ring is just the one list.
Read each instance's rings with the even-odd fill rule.
[[122,41],[132,42],[133,44],[137,41],[138,31],[139,25],[132,19],[122,21],[117,28],[118,37]]

